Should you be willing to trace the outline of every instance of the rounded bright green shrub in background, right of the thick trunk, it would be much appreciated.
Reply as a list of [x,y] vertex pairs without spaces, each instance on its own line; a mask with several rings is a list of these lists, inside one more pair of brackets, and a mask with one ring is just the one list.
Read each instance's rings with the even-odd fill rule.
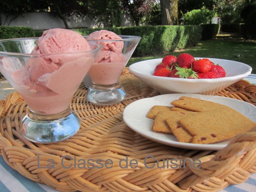
[[201,25],[211,23],[215,15],[215,11],[210,11],[209,9],[206,9],[206,7],[202,7],[201,9],[194,9],[184,14],[184,24]]

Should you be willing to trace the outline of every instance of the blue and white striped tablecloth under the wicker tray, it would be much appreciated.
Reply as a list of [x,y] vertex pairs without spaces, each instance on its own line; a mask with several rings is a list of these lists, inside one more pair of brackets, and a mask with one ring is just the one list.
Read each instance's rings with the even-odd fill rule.
[[[244,79],[256,84],[256,75],[254,74]],[[57,192],[57,190],[25,178],[9,167],[0,156],[0,192]],[[244,183],[229,185],[220,192],[256,192],[256,174],[251,174]]]

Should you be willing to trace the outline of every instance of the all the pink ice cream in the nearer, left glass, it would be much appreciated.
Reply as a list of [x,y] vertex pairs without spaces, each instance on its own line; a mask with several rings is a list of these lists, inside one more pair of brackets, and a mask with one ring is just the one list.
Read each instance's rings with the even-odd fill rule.
[[94,62],[92,55],[84,53],[91,49],[82,35],[61,28],[43,32],[37,43],[32,56],[45,56],[28,58],[25,67],[13,73],[19,85],[15,89],[31,110],[40,114],[60,113],[67,109]]

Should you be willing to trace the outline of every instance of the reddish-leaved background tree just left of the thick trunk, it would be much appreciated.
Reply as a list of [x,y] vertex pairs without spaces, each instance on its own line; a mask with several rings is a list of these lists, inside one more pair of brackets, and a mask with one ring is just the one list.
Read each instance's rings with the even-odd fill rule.
[[150,13],[150,6],[156,0],[122,0],[124,13],[131,14],[135,24],[138,26],[139,21]]

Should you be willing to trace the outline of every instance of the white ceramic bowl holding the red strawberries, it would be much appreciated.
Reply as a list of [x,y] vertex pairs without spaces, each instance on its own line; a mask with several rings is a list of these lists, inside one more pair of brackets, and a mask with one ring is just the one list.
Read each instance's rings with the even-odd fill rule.
[[[201,59],[195,57],[195,59]],[[226,77],[215,79],[186,79],[153,76],[153,71],[162,58],[144,60],[130,65],[129,71],[137,78],[154,88],[160,94],[198,93],[213,95],[229,85],[238,82],[252,72],[252,68],[237,61],[208,58],[226,71]]]

